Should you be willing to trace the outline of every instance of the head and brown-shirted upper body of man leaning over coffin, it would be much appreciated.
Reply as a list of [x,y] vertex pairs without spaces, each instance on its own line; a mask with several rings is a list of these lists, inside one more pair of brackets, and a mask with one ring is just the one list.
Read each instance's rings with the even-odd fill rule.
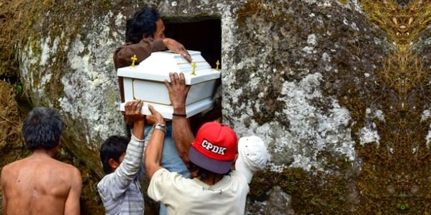
[[[120,67],[132,64],[132,56],[136,55],[135,64],[139,64],[151,55],[152,52],[169,49],[181,54],[189,62],[192,57],[184,45],[165,37],[165,24],[160,19],[159,13],[149,7],[144,7],[133,15],[126,24],[126,41],[114,54],[114,64],[117,70]],[[124,102],[123,81],[119,77],[121,102]]]

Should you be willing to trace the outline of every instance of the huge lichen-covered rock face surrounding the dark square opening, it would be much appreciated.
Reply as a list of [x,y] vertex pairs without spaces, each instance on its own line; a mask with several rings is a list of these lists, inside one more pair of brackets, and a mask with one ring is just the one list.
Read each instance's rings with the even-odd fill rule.
[[[250,185],[247,214],[430,210],[428,204],[415,203],[429,199],[425,185],[429,168],[416,173],[405,169],[430,164],[424,146],[431,140],[431,114],[428,105],[417,102],[425,99],[422,95],[430,87],[418,81],[429,79],[431,42],[429,30],[422,31],[429,23],[426,17],[417,26],[416,20],[409,20],[418,17],[411,15],[415,9],[429,8],[430,3],[66,0],[59,5],[48,0],[5,4],[25,10],[26,16],[20,18],[22,32],[5,28],[15,30],[19,35],[15,39],[21,38],[16,47],[7,46],[7,53],[17,50],[17,57],[3,54],[0,59],[16,59],[7,65],[19,65],[32,106],[61,109],[67,122],[65,149],[89,172],[86,186],[94,199],[94,184],[102,176],[98,148],[106,137],[125,134],[116,111],[120,93],[113,51],[124,42],[126,19],[152,5],[166,18],[221,19],[223,122],[239,136],[262,137],[271,154],[267,170],[257,173]],[[408,24],[407,31],[403,23]],[[418,57],[394,57],[406,53]],[[406,64],[415,64],[417,72],[407,72],[412,67]],[[403,80],[409,87],[403,88]],[[408,99],[412,97],[415,100]],[[406,102],[400,102],[403,98]],[[407,123],[406,114],[411,114]],[[408,133],[414,129],[417,132]],[[407,158],[406,153],[416,157]],[[411,181],[417,177],[420,180]],[[412,195],[419,197],[406,197]],[[100,203],[94,207],[100,208]]]

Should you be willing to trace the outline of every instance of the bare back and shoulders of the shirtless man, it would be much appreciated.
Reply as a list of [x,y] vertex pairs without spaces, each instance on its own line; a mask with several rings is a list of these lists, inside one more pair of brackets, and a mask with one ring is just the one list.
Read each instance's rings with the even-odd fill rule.
[[78,215],[81,175],[48,156],[29,156],[1,172],[4,215]]

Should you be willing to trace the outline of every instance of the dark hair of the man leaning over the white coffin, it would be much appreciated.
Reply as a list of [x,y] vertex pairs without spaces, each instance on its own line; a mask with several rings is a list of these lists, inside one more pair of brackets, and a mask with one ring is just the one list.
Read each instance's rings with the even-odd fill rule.
[[154,8],[144,7],[126,22],[126,42],[139,43],[142,36],[154,36],[160,14]]

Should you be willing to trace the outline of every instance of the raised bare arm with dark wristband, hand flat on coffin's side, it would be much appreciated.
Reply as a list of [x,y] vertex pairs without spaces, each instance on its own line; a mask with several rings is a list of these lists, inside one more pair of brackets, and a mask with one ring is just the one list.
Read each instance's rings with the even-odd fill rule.
[[165,80],[168,87],[169,98],[174,108],[172,118],[172,138],[177,148],[178,155],[184,164],[190,169],[189,149],[194,140],[190,122],[186,117],[186,98],[190,86],[186,85],[184,74],[169,74],[170,83]]

